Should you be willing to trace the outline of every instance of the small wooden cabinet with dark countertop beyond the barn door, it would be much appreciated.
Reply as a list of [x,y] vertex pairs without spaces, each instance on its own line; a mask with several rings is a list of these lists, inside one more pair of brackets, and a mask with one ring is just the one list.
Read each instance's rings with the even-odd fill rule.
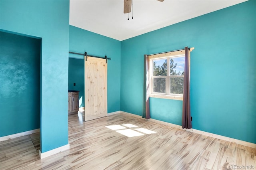
[[79,111],[79,91],[68,92],[68,114],[75,114]]

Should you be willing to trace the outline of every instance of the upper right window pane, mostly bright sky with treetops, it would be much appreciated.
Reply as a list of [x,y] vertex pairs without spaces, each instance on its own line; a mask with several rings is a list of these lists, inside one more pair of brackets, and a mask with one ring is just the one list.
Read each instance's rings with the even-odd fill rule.
[[184,75],[185,57],[170,58],[170,75]]

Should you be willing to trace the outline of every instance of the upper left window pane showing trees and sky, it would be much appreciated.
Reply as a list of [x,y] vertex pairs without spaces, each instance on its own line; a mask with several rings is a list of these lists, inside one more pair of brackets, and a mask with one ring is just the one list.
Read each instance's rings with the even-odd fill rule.
[[155,59],[154,64],[154,76],[167,75],[167,59]]

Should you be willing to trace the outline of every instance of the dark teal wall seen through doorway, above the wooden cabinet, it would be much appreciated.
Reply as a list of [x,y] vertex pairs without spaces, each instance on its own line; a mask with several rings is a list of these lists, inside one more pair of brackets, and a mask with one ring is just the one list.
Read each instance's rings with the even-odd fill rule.
[[79,107],[84,107],[84,59],[68,59],[68,90],[80,91]]

